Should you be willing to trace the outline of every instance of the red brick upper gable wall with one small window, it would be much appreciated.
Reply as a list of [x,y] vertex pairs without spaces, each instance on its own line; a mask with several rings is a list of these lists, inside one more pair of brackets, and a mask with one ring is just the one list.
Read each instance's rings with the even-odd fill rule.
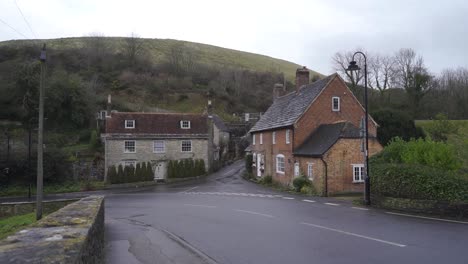
[[[340,97],[340,111],[332,111],[332,97]],[[348,121],[360,127],[364,109],[351,90],[338,77],[315,99],[304,115],[295,124],[294,147],[299,147],[307,137],[322,124]],[[369,134],[376,135],[375,124],[369,119]]]

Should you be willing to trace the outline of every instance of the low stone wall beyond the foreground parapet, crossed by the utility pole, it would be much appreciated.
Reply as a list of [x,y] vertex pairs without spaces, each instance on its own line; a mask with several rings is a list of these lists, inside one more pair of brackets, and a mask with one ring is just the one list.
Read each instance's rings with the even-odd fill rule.
[[[42,211],[44,214],[50,214],[78,200],[79,199],[61,199],[61,200],[54,200],[54,201],[44,201],[42,203]],[[36,210],[35,201],[34,202],[0,203],[0,218],[21,215],[21,214],[28,214],[28,213],[35,212],[35,210]]]

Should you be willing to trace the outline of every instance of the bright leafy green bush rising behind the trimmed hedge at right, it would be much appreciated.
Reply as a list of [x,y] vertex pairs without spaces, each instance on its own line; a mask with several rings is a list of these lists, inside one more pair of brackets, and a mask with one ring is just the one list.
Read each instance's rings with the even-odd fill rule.
[[451,145],[430,139],[405,142],[400,138],[393,139],[381,153],[372,157],[371,163],[419,164],[452,171],[462,165]]

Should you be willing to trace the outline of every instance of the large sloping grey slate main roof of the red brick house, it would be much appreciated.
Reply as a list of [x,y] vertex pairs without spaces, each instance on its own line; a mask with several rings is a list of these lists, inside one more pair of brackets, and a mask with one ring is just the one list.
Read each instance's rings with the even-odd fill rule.
[[293,125],[335,76],[336,74],[332,74],[324,79],[304,85],[299,93],[294,91],[278,97],[250,132]]

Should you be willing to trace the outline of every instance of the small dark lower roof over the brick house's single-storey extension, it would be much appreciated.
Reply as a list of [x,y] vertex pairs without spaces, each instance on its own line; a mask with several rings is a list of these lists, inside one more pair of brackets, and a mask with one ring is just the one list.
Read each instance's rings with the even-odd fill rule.
[[359,128],[349,122],[321,125],[294,151],[294,155],[321,157],[340,138],[360,138]]

